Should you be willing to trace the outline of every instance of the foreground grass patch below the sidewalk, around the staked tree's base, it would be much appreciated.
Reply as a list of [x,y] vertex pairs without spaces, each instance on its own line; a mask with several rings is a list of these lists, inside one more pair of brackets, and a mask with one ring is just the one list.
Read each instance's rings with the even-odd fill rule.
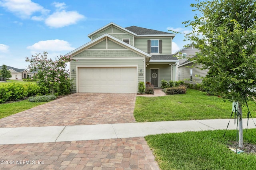
[[[255,154],[228,149],[236,131],[170,133],[145,137],[161,170],[255,170]],[[256,145],[256,129],[244,132],[244,143]]]

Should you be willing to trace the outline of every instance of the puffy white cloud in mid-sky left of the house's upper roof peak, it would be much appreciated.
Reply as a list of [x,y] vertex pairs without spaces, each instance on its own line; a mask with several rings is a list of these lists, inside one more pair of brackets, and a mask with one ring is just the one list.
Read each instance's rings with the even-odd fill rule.
[[79,20],[86,19],[85,16],[79,14],[76,11],[65,11],[54,12],[48,18],[46,18],[45,23],[50,27],[65,27],[77,23]]

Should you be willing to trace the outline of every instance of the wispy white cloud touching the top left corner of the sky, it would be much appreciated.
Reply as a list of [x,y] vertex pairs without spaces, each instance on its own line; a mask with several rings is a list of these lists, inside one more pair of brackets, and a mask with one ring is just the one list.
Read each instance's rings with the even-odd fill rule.
[[49,12],[49,10],[44,9],[42,6],[31,0],[2,0],[0,6],[13,12],[22,19],[30,18],[35,12],[40,12],[41,14],[48,14]]

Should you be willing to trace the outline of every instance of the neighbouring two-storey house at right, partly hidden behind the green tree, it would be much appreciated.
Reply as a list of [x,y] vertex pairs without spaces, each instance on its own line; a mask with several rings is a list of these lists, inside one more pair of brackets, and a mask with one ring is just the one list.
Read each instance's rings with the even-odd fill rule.
[[200,50],[195,48],[193,44],[188,45],[174,53],[178,57],[179,63],[176,69],[176,80],[184,80],[186,83],[201,83],[208,70],[201,70],[202,65],[194,64],[190,61],[192,57],[199,53]]

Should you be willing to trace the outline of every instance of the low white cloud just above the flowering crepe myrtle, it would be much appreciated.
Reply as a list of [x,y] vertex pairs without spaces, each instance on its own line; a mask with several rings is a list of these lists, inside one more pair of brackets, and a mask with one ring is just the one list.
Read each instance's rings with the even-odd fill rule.
[[34,43],[33,45],[28,46],[27,49],[30,49],[31,51],[36,51],[36,53],[42,53],[43,51],[72,51],[75,48],[71,47],[71,45],[67,41],[54,39],[39,41],[38,43]]

